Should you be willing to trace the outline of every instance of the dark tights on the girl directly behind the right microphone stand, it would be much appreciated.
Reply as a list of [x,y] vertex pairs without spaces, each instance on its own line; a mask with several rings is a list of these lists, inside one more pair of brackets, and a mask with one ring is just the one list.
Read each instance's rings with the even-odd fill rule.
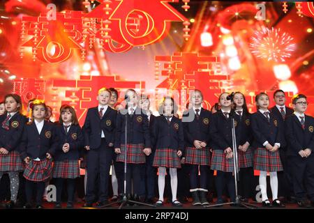
[[230,200],[235,201],[235,186],[234,186],[234,176],[232,173],[217,171],[216,177],[216,190],[217,190],[217,199],[223,201],[223,189],[227,184],[227,190],[229,192]]

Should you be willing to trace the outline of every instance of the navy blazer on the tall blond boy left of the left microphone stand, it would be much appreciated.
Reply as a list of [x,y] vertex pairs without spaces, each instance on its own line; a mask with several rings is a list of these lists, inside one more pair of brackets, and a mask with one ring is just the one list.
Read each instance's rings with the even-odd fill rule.
[[107,144],[114,143],[114,132],[116,128],[117,110],[107,107],[103,118],[100,119],[98,106],[87,111],[83,125],[84,146],[96,149],[101,144],[101,130],[105,134]]

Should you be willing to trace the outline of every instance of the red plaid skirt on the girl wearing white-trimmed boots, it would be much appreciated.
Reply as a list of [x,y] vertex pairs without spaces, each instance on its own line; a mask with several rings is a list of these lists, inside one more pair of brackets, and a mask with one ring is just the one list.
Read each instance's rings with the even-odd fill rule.
[[186,147],[186,164],[207,165],[211,163],[209,148]]

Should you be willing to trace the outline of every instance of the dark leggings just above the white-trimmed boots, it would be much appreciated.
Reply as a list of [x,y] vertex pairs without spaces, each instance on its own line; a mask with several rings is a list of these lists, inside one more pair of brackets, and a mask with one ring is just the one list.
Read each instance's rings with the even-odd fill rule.
[[199,165],[190,165],[190,188],[202,188],[207,189],[207,171],[208,166],[200,165],[200,187],[198,187],[198,167]]

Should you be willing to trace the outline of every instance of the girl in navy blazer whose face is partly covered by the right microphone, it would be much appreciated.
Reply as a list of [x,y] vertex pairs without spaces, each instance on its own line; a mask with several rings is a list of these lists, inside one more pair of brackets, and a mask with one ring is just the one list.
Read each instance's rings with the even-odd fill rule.
[[[212,115],[210,134],[212,138],[211,148],[213,155],[211,157],[211,169],[217,171],[216,204],[223,203],[223,189],[227,185],[231,202],[234,202],[235,186],[234,186],[234,163],[232,148],[232,116],[234,118],[234,127],[236,133],[236,144],[239,145],[239,116],[232,111],[231,98],[229,93],[222,93],[219,96],[220,110]],[[224,179],[226,178],[226,180]],[[225,182],[225,183],[224,183]]]

